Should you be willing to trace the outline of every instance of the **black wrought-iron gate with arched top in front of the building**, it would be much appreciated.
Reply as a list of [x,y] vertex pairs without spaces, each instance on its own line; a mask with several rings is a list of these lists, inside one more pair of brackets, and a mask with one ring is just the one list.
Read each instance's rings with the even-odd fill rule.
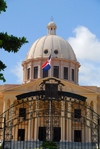
[[[48,80],[46,80],[48,81]],[[1,114],[4,149],[42,148],[45,141],[56,142],[57,148],[99,148],[100,116],[86,98],[60,90],[41,90],[18,95],[13,105]],[[52,86],[53,87],[53,86]]]

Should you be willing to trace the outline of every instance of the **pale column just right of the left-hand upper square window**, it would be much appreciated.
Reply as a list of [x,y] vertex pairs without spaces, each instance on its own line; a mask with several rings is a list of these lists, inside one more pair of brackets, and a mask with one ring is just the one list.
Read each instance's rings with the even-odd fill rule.
[[33,101],[30,101],[29,102],[29,121],[28,121],[28,141],[31,141],[32,139],[32,114],[33,114],[32,111],[33,111]]

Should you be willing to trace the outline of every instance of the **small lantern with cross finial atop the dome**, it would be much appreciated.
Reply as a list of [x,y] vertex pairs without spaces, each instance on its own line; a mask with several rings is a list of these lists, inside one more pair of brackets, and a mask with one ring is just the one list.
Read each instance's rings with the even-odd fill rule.
[[[53,18],[51,18],[51,19],[53,19]],[[57,26],[53,21],[49,22],[47,25],[48,35],[56,35],[56,28],[57,28]]]

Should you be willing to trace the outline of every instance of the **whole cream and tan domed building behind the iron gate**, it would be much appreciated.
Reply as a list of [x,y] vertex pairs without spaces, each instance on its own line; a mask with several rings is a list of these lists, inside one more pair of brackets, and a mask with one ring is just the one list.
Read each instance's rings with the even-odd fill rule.
[[[8,140],[43,141],[41,134],[45,134],[44,140],[54,140],[58,132],[60,142],[92,142],[92,126],[97,125],[100,114],[100,87],[79,86],[80,63],[70,44],[56,35],[56,29],[56,24],[50,22],[47,35],[31,46],[22,63],[23,83],[0,85],[0,114],[6,117],[11,132]],[[44,72],[41,66],[50,54],[51,69]],[[36,93],[46,79],[53,84],[60,81],[63,86],[58,85],[58,91],[66,92],[59,96],[62,100],[52,101],[51,108],[49,100],[43,101],[42,94],[40,97]],[[42,90],[45,90],[44,86]],[[12,121],[13,127],[10,127]]]

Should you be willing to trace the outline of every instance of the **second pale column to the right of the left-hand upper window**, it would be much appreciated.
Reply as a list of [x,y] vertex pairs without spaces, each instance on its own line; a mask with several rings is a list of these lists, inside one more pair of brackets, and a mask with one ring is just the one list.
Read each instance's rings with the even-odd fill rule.
[[39,110],[39,101],[36,99],[36,110],[35,110],[35,126],[34,126],[34,141],[38,141],[38,110]]

